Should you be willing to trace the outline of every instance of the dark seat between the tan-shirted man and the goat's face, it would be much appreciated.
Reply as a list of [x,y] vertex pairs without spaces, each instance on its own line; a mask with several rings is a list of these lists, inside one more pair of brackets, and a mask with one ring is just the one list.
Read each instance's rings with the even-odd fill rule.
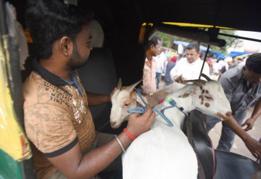
[[[93,48],[87,63],[78,70],[80,81],[87,92],[111,94],[117,86],[117,72],[111,49]],[[95,129],[106,133],[117,133],[109,123],[111,103],[89,106]],[[120,131],[120,129],[118,129]],[[122,130],[122,129],[121,129]]]

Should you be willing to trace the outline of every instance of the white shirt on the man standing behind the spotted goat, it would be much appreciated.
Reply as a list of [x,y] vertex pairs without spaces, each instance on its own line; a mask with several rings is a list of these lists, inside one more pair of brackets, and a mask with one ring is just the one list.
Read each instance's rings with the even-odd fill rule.
[[[175,76],[181,76],[182,74],[182,77],[186,80],[198,79],[202,65],[203,61],[199,58],[193,63],[189,63],[187,58],[182,58],[172,68],[170,76],[174,79]],[[205,63],[202,73],[209,76],[209,65],[207,63]]]

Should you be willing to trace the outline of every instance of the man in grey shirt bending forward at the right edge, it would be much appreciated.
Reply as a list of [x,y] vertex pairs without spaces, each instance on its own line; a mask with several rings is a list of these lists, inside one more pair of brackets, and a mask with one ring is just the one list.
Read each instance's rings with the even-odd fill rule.
[[[232,116],[239,125],[247,115],[249,107],[254,106],[253,113],[247,118],[242,127],[246,127],[245,131],[253,128],[255,121],[261,114],[261,53],[252,54],[247,59],[245,65],[227,70],[220,76],[220,83],[223,86],[225,95],[229,100],[232,110]],[[220,120],[214,116],[207,116],[207,132],[216,125]],[[234,132],[222,124],[221,137],[217,149],[229,151],[234,143]],[[247,145],[247,140],[242,138]],[[260,145],[257,143],[257,145]],[[247,146],[248,147],[248,146]],[[249,147],[248,147],[249,148]],[[261,149],[261,145],[259,147]],[[260,150],[261,151],[261,150]],[[260,151],[257,154],[251,153],[253,156],[261,156]]]

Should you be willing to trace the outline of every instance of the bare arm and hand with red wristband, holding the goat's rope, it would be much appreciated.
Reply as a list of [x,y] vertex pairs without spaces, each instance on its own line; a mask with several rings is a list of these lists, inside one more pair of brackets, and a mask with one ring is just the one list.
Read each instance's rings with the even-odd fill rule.
[[[131,114],[126,128],[134,136],[139,136],[150,129],[154,118],[155,113],[148,107],[141,116]],[[118,138],[125,149],[132,142],[131,138],[125,133],[120,134]],[[48,158],[48,160],[67,178],[91,178],[105,169],[121,153],[122,149],[117,140],[114,139],[110,143],[84,155],[80,150],[80,144],[77,143],[64,154]]]

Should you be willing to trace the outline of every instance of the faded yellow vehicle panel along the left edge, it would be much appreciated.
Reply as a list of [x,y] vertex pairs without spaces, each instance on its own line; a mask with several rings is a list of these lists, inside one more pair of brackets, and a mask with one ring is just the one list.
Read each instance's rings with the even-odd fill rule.
[[16,120],[8,87],[8,77],[12,76],[7,76],[7,72],[10,72],[7,38],[2,36],[2,43],[0,41],[0,149],[19,161],[30,158],[32,153],[23,129]]

